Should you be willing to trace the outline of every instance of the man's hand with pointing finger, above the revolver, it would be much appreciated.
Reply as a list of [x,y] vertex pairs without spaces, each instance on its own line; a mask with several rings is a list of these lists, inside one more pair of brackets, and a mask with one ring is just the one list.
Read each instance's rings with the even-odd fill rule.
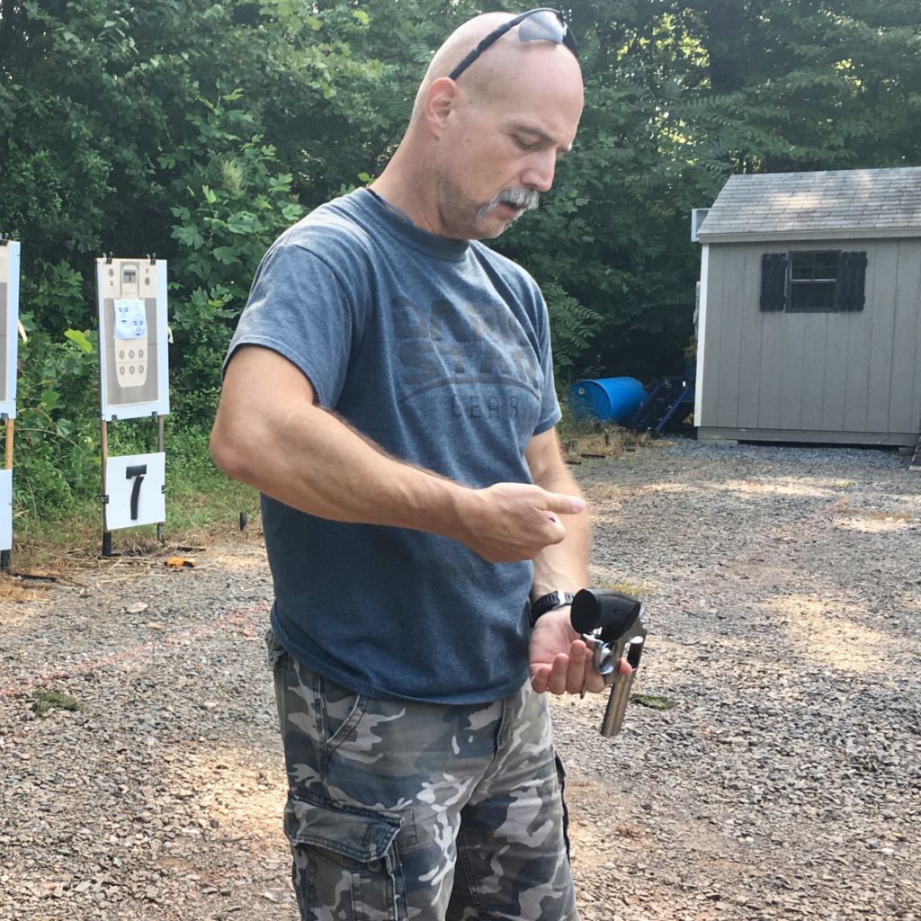
[[558,515],[578,515],[585,501],[575,495],[548,493],[540,486],[497,483],[471,490],[460,503],[464,546],[487,563],[519,563],[565,538]]

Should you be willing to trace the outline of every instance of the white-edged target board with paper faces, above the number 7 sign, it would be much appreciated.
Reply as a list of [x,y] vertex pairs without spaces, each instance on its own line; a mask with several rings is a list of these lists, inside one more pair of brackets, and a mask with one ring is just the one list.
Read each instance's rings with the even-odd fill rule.
[[102,418],[169,414],[167,263],[96,260]]

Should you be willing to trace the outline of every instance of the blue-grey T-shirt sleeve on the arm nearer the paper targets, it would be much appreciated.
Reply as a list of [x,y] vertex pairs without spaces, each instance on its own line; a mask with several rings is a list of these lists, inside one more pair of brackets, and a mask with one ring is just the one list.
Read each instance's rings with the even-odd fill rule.
[[354,328],[351,298],[332,267],[315,252],[279,240],[253,280],[224,372],[240,345],[262,345],[296,365],[321,406],[332,409],[343,389]]

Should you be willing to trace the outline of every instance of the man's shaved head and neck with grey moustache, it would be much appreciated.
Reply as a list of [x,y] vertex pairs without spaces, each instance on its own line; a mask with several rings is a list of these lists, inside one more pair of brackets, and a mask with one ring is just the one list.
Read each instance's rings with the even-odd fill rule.
[[[436,53],[413,120],[373,191],[417,227],[452,239],[496,237],[554,181],[582,114],[576,56],[549,39],[519,41],[519,26],[451,73],[497,27],[465,22]],[[527,20],[525,20],[527,21]]]

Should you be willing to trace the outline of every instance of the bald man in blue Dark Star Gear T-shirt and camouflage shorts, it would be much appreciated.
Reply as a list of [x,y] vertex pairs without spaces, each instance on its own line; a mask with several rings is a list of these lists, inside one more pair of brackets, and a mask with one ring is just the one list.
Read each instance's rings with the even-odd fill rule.
[[540,292],[476,241],[581,111],[560,14],[465,23],[380,178],[275,242],[230,346],[212,450],[263,494],[305,921],[577,918],[543,692],[603,688],[565,597],[589,527]]

